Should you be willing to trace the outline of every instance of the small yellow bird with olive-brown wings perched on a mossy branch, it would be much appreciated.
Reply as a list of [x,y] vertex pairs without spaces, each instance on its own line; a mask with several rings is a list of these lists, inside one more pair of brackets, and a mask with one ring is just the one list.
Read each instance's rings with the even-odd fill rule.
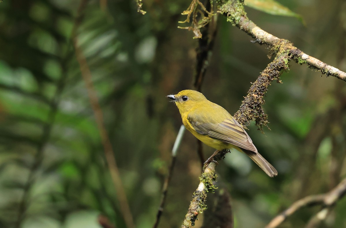
[[220,150],[235,148],[249,156],[268,176],[277,175],[276,169],[257,152],[244,128],[226,109],[195,90],[186,89],[167,97],[178,107],[185,128],[204,144],[216,149],[206,163],[214,161],[213,156]]

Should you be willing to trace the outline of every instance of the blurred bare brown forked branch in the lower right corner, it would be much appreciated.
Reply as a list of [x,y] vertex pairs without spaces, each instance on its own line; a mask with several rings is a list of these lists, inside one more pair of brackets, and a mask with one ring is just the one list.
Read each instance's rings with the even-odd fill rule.
[[316,214],[318,219],[324,219],[327,216],[328,208],[341,199],[346,193],[346,178],[343,179],[335,188],[325,194],[310,195],[294,202],[288,209],[273,218],[266,228],[275,228],[279,226],[287,217],[298,211],[302,207],[309,205],[321,205],[322,209]]

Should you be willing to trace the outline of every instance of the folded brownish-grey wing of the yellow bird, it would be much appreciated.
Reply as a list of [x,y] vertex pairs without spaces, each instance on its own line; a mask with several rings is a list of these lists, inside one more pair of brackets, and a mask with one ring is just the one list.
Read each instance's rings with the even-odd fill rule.
[[188,116],[193,128],[200,134],[209,135],[211,138],[230,143],[240,148],[257,152],[251,138],[244,128],[233,118],[225,119],[221,123],[201,123],[193,116]]

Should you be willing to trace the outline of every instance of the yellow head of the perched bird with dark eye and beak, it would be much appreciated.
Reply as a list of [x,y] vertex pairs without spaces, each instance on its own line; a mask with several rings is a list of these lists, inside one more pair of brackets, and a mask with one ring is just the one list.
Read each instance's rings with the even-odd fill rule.
[[182,90],[175,95],[168,95],[167,97],[176,104],[180,114],[188,112],[195,105],[198,105],[199,102],[207,100],[202,93],[190,89]]

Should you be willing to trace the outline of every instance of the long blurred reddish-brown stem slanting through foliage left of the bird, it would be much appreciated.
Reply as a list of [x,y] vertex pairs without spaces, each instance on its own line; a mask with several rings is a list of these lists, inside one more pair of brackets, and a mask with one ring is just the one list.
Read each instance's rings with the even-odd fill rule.
[[[78,9],[78,21],[82,20],[82,14],[81,12],[84,10],[86,6],[87,0],[81,0],[79,9]],[[76,29],[73,31],[73,46],[76,53],[76,58],[80,66],[81,74],[83,77],[83,80],[85,81],[85,86],[88,91],[88,96],[90,99],[90,104],[94,112],[95,121],[97,124],[97,128],[100,133],[101,141],[104,148],[104,154],[108,163],[109,171],[113,180],[113,183],[115,185],[116,191],[117,191],[117,197],[120,203],[120,211],[122,213],[122,216],[125,220],[126,226],[128,228],[135,227],[133,222],[133,217],[130,211],[130,207],[128,205],[126,194],[124,190],[124,186],[122,185],[119,169],[116,163],[116,159],[114,156],[114,152],[112,149],[112,144],[109,140],[106,128],[104,126],[103,122],[103,114],[102,110],[99,104],[99,100],[97,97],[97,93],[95,91],[93,82],[92,82],[92,76],[91,71],[89,69],[89,65],[86,62],[85,56],[83,55],[83,52],[81,48],[78,45],[78,37],[76,35]]]

